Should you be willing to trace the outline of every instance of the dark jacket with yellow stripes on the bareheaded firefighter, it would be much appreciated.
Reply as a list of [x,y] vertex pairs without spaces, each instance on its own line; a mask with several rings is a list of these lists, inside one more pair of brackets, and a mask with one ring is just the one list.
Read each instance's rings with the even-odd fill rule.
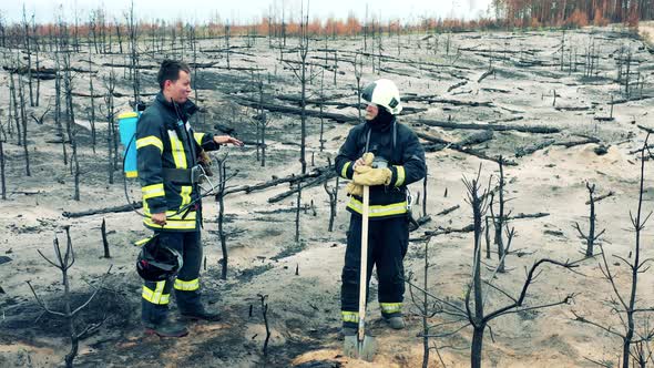
[[[197,111],[190,100],[180,105],[159,93],[136,124],[136,159],[143,194],[143,224],[156,231],[194,232],[201,215],[197,185],[171,180],[167,173],[186,173],[196,165],[201,150],[214,151],[219,144],[213,134],[196,133],[188,119]],[[186,170],[186,171],[181,171]],[[184,211],[181,208],[187,207]],[[152,214],[166,213],[166,224],[152,222]]]

